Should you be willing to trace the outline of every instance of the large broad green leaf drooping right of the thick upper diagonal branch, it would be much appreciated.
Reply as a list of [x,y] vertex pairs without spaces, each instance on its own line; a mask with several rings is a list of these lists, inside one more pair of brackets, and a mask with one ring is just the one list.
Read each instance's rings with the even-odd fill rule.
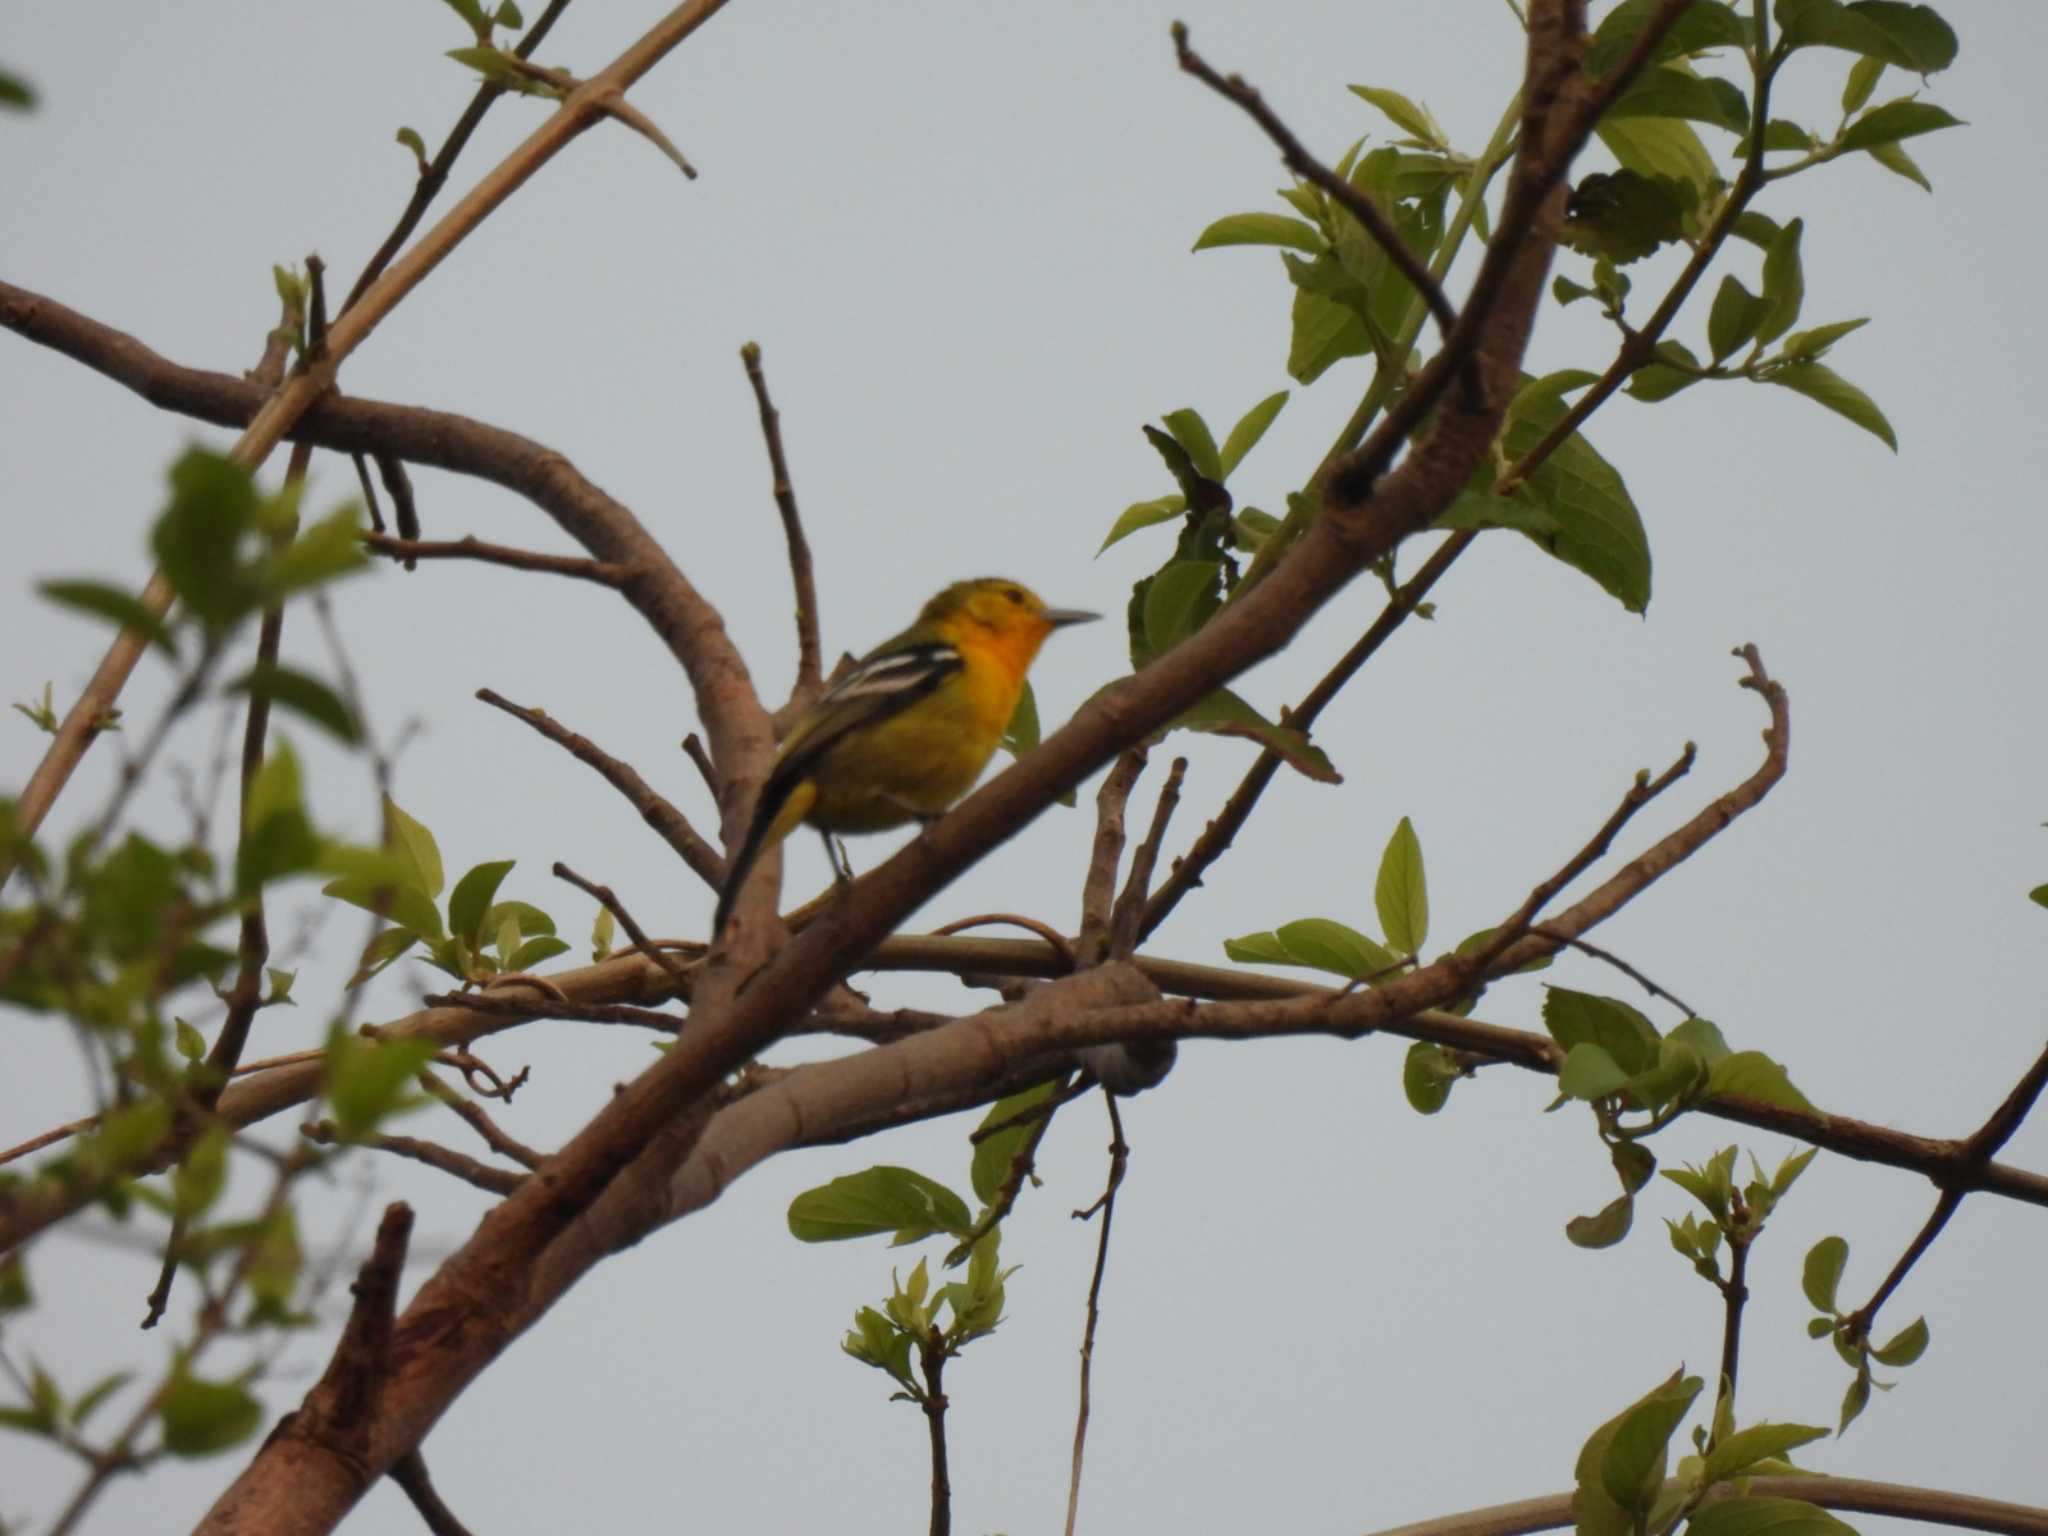
[[[1538,389],[1540,383],[1522,387],[1501,430],[1511,461],[1530,455],[1565,416],[1565,401]],[[1649,606],[1651,549],[1642,516],[1620,473],[1581,432],[1565,438],[1516,496],[1556,520],[1554,535],[1528,532],[1538,549],[1593,578],[1628,612]]]

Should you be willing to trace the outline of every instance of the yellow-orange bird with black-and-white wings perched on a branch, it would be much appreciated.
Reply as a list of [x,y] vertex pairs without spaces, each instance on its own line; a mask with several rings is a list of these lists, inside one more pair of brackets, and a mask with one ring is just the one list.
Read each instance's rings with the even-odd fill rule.
[[[1047,608],[1030,588],[954,582],[918,623],[868,651],[776,752],[754,821],[719,891],[713,938],[754,862],[797,823],[825,836],[930,821],[961,799],[1016,713],[1044,637],[1102,614]],[[838,868],[838,860],[834,860]]]

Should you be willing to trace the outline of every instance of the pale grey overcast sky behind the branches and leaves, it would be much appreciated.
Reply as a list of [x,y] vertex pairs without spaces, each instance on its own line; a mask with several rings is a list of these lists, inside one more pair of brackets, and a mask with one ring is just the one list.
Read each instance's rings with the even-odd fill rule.
[[[1931,96],[1970,127],[1911,145],[1935,195],[1855,158],[1759,205],[1808,219],[1802,324],[1874,317],[1831,362],[1890,414],[1898,457],[1778,389],[1614,401],[1591,436],[1649,524],[1647,618],[1513,535],[1485,539],[1440,586],[1438,621],[1409,625],[1325,717],[1319,739],[1343,786],[1276,784],[1155,952],[1221,965],[1225,936],[1300,915],[1370,928],[1372,868],[1401,815],[1427,856],[1432,946],[1450,944],[1577,848],[1638,766],[1661,768],[1696,739],[1692,780],[1618,856],[1640,850],[1755,766],[1763,713],[1737,690],[1729,657],[1755,641],[1792,694],[1790,778],[1595,938],[1739,1049],[1780,1057],[1823,1108],[1966,1135],[2003,1098],[2048,1032],[2048,911],[2025,899],[2048,881],[2038,666],[2048,524],[2034,461],[2048,227],[2032,147],[2048,10],[2021,0],[1944,10],[1962,57]],[[543,59],[596,68],[657,12],[586,0]],[[1276,256],[1188,254],[1223,213],[1280,209],[1282,174],[1241,115],[1176,74],[1176,14],[1327,156],[1386,131],[1350,82],[1407,90],[1477,152],[1520,70],[1513,20],[1495,0],[1178,10],[735,0],[635,92],[702,180],[686,184],[629,133],[586,135],[377,332],[344,385],[465,412],[569,455],[721,604],[776,696],[795,645],[735,356],[748,338],[766,348],[784,412],[831,653],[870,645],[965,573],[1001,571],[1055,602],[1120,612],[1169,537],[1092,559],[1126,502],[1169,489],[1141,422],[1192,403],[1221,434],[1290,383],[1290,289]],[[0,61],[33,78],[43,104],[0,119],[0,276],[217,369],[248,367],[274,322],[272,262],[317,250],[336,293],[346,289],[410,193],[412,160],[393,131],[412,125],[438,143],[471,90],[440,57],[463,29],[432,0],[23,0],[8,23]],[[1780,113],[1831,127],[1847,63],[1796,59]],[[1878,94],[1911,84],[1892,72]],[[459,180],[541,111],[502,102]],[[1726,154],[1729,137],[1706,133]],[[1749,248],[1724,260],[1755,287]],[[1583,274],[1583,262],[1565,258],[1561,270]],[[1610,340],[1585,311],[1546,305],[1532,371],[1606,365]],[[1704,303],[1677,334],[1698,342],[1702,328]],[[166,465],[188,440],[227,438],[16,338],[0,338],[0,358],[12,530],[4,692],[31,698],[49,678],[61,702],[106,631],[51,610],[31,584],[139,586]],[[1354,360],[1296,391],[1235,477],[1241,498],[1278,506],[1364,379]],[[504,492],[432,471],[416,481],[432,537],[565,547]],[[315,459],[315,508],[352,494],[344,461]],[[1405,551],[1407,567],[1415,559]],[[471,700],[494,686],[547,707],[711,827],[676,750],[694,725],[688,692],[623,604],[547,578],[438,565],[410,578],[379,569],[338,608],[379,731],[424,723],[397,797],[434,827],[451,879],[516,856],[506,895],[547,905],[582,940],[590,901],[547,877],[565,858],[653,932],[702,934],[709,895],[629,807]],[[1243,690],[1268,709],[1296,698],[1376,610],[1370,584],[1358,584]],[[1124,670],[1118,629],[1053,641],[1038,670],[1049,719]],[[289,621],[287,651],[330,666],[305,614]],[[143,664],[123,700],[131,721],[154,715],[166,682],[158,662]],[[6,719],[0,782],[18,784],[43,737]],[[174,752],[201,762],[213,729],[195,723]],[[360,764],[307,729],[293,735],[317,813],[369,834]],[[1135,801],[1141,817],[1182,750],[1194,766],[1176,850],[1251,756],[1243,743],[1176,737]],[[113,766],[100,754],[78,776],[53,834],[102,803]],[[176,825],[168,786],[137,819]],[[1051,813],[918,924],[1006,907],[1071,926],[1090,825]],[[872,866],[887,846],[858,844],[856,862]],[[823,879],[815,840],[793,864],[793,887]],[[295,903],[317,905],[309,891]],[[274,922],[287,938],[291,905]],[[254,1053],[317,1038],[358,934],[352,915],[322,932],[319,958],[303,965],[305,1006],[264,1014]],[[1589,963],[1546,979],[1675,1022]],[[432,985],[418,967],[395,971],[369,1014],[399,1016]],[[885,1006],[989,1001],[940,981],[877,979],[874,993]],[[1540,999],[1538,981],[1520,981],[1481,1012],[1540,1028]],[[1401,1098],[1401,1051],[1192,1044],[1161,1090],[1126,1108],[1135,1155],[1104,1292],[1083,1530],[1360,1532],[1563,1489],[1593,1425],[1679,1362],[1712,1374],[1718,1296],[1661,1227],[1688,1208],[1683,1196],[1659,1184],[1622,1247],[1573,1249],[1565,1221],[1612,1194],[1587,1114],[1544,1116],[1540,1079],[1493,1071],[1423,1120]],[[543,1024],[487,1055],[532,1065],[506,1122],[551,1145],[645,1065],[647,1044]],[[66,1034],[10,1020],[0,1143],[84,1102]],[[874,1161],[965,1188],[969,1124],[778,1159],[717,1208],[606,1264],[426,1442],[453,1507],[494,1536],[922,1530],[924,1423],[885,1401],[881,1374],[838,1352],[854,1309],[915,1255],[879,1241],[799,1245],[784,1208]],[[403,1128],[467,1145],[444,1116]],[[264,1135],[279,1145],[291,1126]],[[1769,1163],[1784,1151],[1712,1120],[1681,1122],[1657,1151],[1675,1165],[1729,1141]],[[1094,1227],[1067,1212],[1100,1190],[1104,1143],[1094,1102],[1059,1118],[1040,1155],[1044,1188],[1006,1229],[1004,1257],[1024,1266],[1010,1321],[948,1372],[958,1532],[1059,1528],[1096,1245]],[[2005,1157],[2048,1165],[2048,1122],[2036,1118]],[[367,1235],[362,1223],[344,1227],[352,1180],[375,1180],[377,1200],[412,1200],[424,1251],[459,1241],[483,1210],[467,1186],[365,1155],[332,1196],[309,1196],[348,1241]],[[258,1198],[262,1184],[254,1161],[238,1165],[238,1198]],[[1931,1200],[1905,1174],[1815,1163],[1753,1255],[1745,1421],[1833,1423],[1847,1372],[1804,1337],[1800,1257],[1827,1233],[1847,1237],[1843,1296],[1860,1303]],[[41,1358],[74,1391],[117,1364],[160,1368],[170,1339],[131,1331],[154,1268],[154,1255],[90,1231],[43,1241],[31,1257],[43,1307],[8,1327],[4,1348]],[[1812,1446],[1808,1464],[2048,1501],[2044,1280],[2044,1212],[1970,1200],[1880,1329],[1927,1313],[1927,1356],[1843,1442]],[[285,1352],[264,1384],[274,1409],[303,1393],[340,1311],[330,1298],[326,1329]],[[246,1454],[119,1483],[88,1530],[180,1528]],[[0,1440],[0,1518],[35,1530],[74,1481],[41,1446]],[[383,1485],[346,1528],[406,1532],[418,1520]]]

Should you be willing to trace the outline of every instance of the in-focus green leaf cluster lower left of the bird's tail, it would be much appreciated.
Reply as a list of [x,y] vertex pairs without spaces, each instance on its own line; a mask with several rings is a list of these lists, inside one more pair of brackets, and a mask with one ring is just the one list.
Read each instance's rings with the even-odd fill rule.
[[[516,860],[473,866],[449,893],[442,922],[436,899],[444,883],[440,844],[426,823],[399,809],[389,795],[385,846],[356,858],[342,879],[322,887],[324,895],[346,901],[391,922],[362,950],[348,985],[360,985],[389,967],[414,944],[424,946],[428,965],[465,987],[498,975],[530,971],[565,954],[569,944],[555,932],[555,920],[528,901],[498,901],[498,887]],[[598,942],[610,930],[600,920]]]

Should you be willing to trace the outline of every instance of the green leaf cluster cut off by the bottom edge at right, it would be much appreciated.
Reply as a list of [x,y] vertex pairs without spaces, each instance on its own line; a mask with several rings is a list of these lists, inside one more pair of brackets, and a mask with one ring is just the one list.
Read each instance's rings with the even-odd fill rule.
[[[1790,1470],[1784,1456],[1825,1440],[1806,1423],[1737,1430],[1722,1395],[1714,1430],[1694,1427],[1696,1454],[1671,1473],[1671,1436],[1700,1397],[1683,1370],[1616,1413],[1579,1448],[1573,1516],[1579,1536],[1665,1536],[1690,1522],[1694,1536],[1845,1536],[1851,1528],[1802,1499],[1755,1497],[1743,1479]],[[1708,1497],[1716,1495],[1716,1497]]]

